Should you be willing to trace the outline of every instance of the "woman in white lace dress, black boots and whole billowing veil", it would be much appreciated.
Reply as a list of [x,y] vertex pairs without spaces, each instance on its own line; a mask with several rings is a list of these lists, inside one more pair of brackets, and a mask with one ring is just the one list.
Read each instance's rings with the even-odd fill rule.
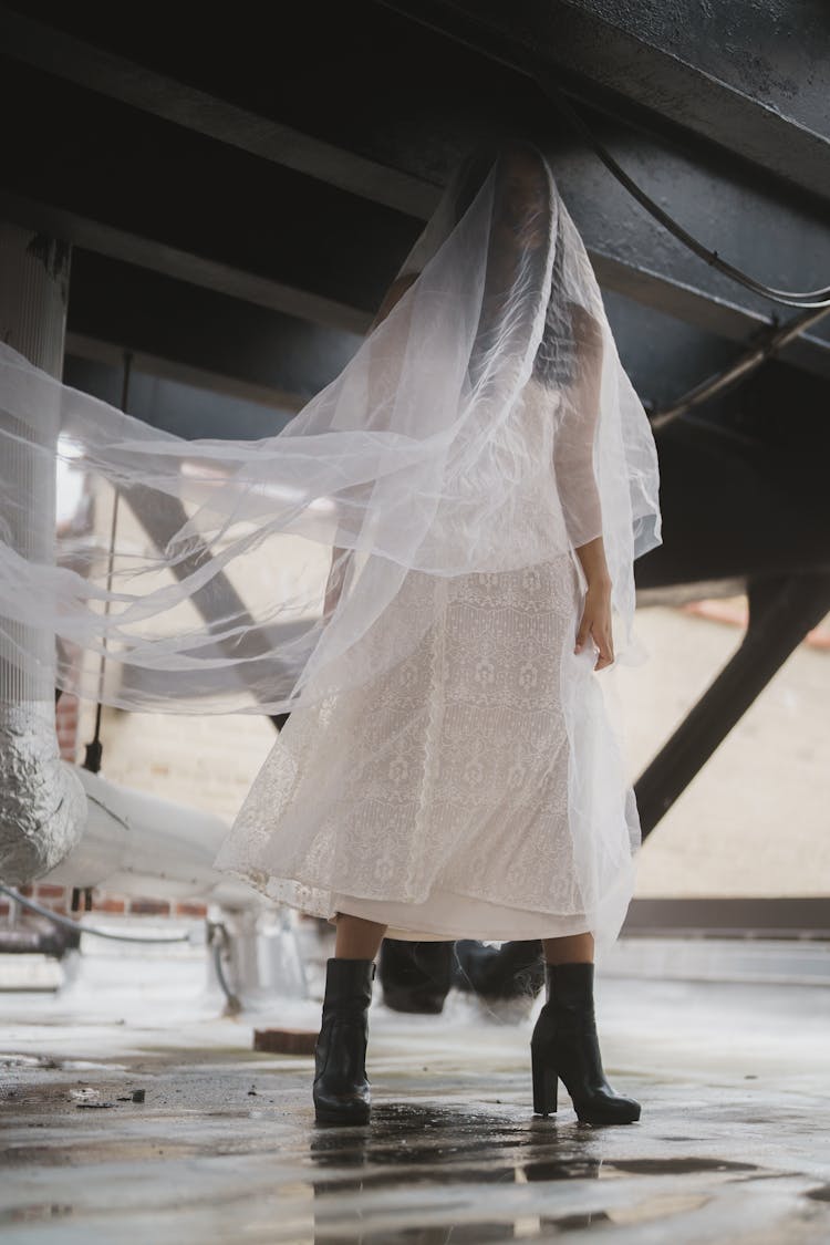
[[543,153],[472,153],[361,349],[276,437],[183,442],[0,364],[9,435],[57,401],[63,446],[159,547],[92,542],[78,574],[77,539],[72,571],[0,540],[2,655],[49,627],[81,695],[291,715],[215,864],[336,921],[317,1119],[368,1118],[385,933],[541,939],[534,1109],[561,1078],[581,1119],[638,1118],[592,1011],[640,838],[595,674],[642,660],[632,563],[661,539],[657,459]]

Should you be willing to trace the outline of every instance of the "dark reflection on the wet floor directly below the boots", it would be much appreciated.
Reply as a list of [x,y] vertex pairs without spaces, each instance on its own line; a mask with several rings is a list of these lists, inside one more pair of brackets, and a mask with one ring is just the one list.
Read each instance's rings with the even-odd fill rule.
[[[314,1180],[315,1240],[365,1243],[401,1241],[437,1245],[443,1241],[501,1241],[540,1238],[597,1228],[601,1224],[635,1224],[703,1206],[707,1194],[656,1194],[615,1213],[602,1209],[584,1213],[557,1210],[556,1190],[540,1189],[539,1205],[525,1208],[516,1218],[487,1221],[474,1216],[459,1223],[453,1210],[469,1214],[467,1201],[453,1203],[447,1185],[488,1189],[499,1185],[541,1185],[585,1182],[621,1175],[684,1177],[696,1173],[757,1173],[755,1163],[729,1159],[663,1155],[657,1158],[604,1158],[596,1153],[596,1130],[575,1125],[562,1138],[549,1120],[509,1123],[501,1116],[487,1116],[436,1107],[381,1108],[367,1128],[321,1128],[310,1143],[310,1154],[325,1177]],[[688,1140],[688,1138],[676,1138]],[[429,1228],[394,1229],[391,1223],[372,1230],[367,1223],[367,1196],[381,1189],[421,1190],[424,1204],[441,1206],[449,1221]],[[352,1195],[353,1214],[348,1213]],[[406,1214],[403,1203],[399,1214]],[[378,1208],[380,1209],[380,1208]],[[386,1215],[394,1214],[386,1206]]]

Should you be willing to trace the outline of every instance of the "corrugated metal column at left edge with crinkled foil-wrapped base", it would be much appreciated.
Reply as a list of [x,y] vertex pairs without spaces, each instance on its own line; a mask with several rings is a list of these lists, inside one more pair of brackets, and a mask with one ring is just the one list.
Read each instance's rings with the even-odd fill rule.
[[[0,222],[0,339],[60,376],[63,366],[70,248],[31,229]],[[11,524],[27,558],[55,557],[55,459],[60,408],[39,412],[36,430],[4,451],[0,487],[25,484],[29,513]],[[0,421],[11,417],[0,410]],[[47,453],[39,452],[39,447]],[[12,646],[31,660],[9,660]],[[55,639],[4,620],[0,634],[0,878],[30,881],[75,845],[86,820],[78,778],[61,766],[55,731]]]

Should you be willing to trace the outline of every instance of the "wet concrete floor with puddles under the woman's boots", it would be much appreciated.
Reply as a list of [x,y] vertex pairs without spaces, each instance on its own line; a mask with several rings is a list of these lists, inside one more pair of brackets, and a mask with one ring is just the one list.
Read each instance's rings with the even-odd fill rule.
[[250,1050],[253,1027],[307,1023],[312,1005],[83,1016],[6,996],[0,1240],[830,1241],[830,991],[597,994],[637,1124],[579,1124],[561,1089],[559,1116],[534,1118],[540,1001],[513,1020],[460,996],[441,1017],[373,1003],[373,1119],[338,1129],[314,1125],[310,1058]]

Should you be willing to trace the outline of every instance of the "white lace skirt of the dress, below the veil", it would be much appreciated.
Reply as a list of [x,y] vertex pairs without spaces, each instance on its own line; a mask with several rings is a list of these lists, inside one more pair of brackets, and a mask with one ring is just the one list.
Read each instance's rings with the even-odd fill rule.
[[616,935],[632,885],[628,827],[599,819],[575,842],[569,818],[562,661],[581,669],[584,738],[609,741],[592,644],[571,656],[575,563],[409,573],[368,642],[381,651],[383,627],[406,625],[424,594],[439,621],[408,660],[291,715],[217,868],[330,920],[382,921],[392,937],[596,933],[600,908]]

